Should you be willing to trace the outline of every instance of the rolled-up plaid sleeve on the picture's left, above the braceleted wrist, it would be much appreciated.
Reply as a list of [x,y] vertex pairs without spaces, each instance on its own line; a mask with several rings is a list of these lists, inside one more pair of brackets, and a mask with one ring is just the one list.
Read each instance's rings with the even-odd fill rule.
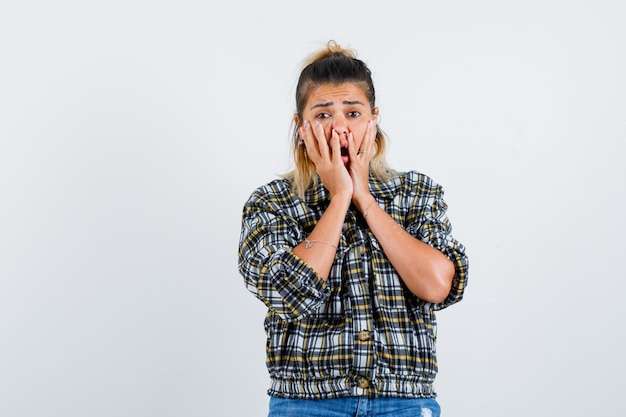
[[246,288],[283,320],[316,310],[330,296],[326,282],[291,249],[304,239],[296,219],[257,190],[245,204],[239,272]]

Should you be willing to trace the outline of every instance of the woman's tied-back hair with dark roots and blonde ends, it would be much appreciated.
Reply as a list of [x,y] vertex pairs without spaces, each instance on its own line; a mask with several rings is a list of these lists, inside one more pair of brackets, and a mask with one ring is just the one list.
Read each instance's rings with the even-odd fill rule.
[[[300,145],[298,128],[303,123],[302,112],[311,91],[323,84],[354,83],[363,88],[369,100],[372,111],[376,107],[376,93],[372,74],[367,65],[352,49],[344,49],[335,41],[327,43],[326,48],[311,54],[300,73],[296,87],[296,117],[292,126],[291,147],[293,152],[294,169],[283,177],[292,183],[292,191],[299,197],[317,186],[318,176],[315,165],[309,159],[306,148]],[[387,139],[380,128],[376,126],[376,153],[370,161],[370,173],[377,179],[388,181],[396,174],[387,164]]]

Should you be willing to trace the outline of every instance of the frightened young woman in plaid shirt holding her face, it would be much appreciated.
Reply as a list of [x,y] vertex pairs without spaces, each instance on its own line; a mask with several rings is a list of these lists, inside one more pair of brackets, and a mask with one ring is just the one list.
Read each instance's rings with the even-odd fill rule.
[[243,210],[239,271],[268,307],[270,416],[438,416],[435,311],[461,300],[442,188],[385,160],[370,70],[335,42],[302,70],[292,172]]

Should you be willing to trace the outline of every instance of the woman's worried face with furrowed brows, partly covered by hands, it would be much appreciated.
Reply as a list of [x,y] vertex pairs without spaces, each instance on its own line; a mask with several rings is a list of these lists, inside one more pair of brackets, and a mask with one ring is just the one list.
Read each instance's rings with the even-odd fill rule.
[[355,83],[322,84],[313,88],[302,111],[303,121],[322,125],[326,140],[330,140],[333,130],[337,132],[342,154],[348,146],[347,135],[350,132],[356,148],[360,148],[367,123],[375,115],[378,115],[378,108],[372,112],[363,87]]

